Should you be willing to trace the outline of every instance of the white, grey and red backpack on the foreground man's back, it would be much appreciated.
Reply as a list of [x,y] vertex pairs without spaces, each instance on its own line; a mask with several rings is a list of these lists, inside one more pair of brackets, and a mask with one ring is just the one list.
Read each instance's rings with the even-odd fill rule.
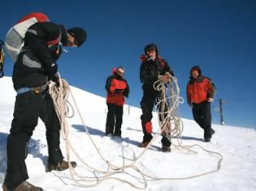
[[34,12],[24,16],[8,32],[5,40],[7,53],[13,62],[16,62],[20,50],[24,46],[24,36],[28,28],[37,22],[48,22],[47,15]]

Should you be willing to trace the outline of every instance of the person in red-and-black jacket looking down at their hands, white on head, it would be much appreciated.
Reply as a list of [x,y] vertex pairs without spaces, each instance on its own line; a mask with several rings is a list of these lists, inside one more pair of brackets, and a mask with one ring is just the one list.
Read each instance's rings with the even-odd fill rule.
[[124,96],[128,98],[130,91],[128,83],[124,79],[124,68],[122,66],[113,69],[113,74],[106,79],[105,88],[108,108],[105,135],[121,137]]

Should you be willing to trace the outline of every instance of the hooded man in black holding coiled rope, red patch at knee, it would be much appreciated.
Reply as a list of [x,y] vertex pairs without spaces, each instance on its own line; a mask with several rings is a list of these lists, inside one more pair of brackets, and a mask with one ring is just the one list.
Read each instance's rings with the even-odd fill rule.
[[[146,147],[151,139],[153,138],[152,133],[152,123],[153,118],[152,111],[157,98],[160,98],[161,92],[154,90],[154,82],[160,79],[163,83],[167,83],[168,74],[173,76],[173,72],[168,66],[167,61],[158,55],[158,48],[154,44],[145,46],[145,54],[141,55],[141,69],[140,69],[140,79],[143,90],[143,97],[141,100],[141,124],[143,129],[143,141],[139,146]],[[162,150],[164,152],[171,151],[171,142],[163,135],[161,140]]]

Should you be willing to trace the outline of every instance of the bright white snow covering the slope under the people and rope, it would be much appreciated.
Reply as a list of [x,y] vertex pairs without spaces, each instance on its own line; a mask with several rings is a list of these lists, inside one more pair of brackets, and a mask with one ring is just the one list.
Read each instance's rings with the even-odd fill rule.
[[[7,168],[7,135],[11,128],[12,113],[15,103],[15,91],[11,78],[0,79],[0,185],[2,185]],[[122,139],[113,140],[105,137],[106,100],[87,91],[72,87],[76,104],[85,121],[86,128],[98,148],[102,158],[111,164],[122,167],[132,163],[132,159],[141,155],[144,149],[137,146],[142,140],[141,109],[124,106],[124,122],[122,125]],[[72,103],[74,105],[74,103]],[[129,112],[128,112],[129,111]],[[158,119],[154,113],[154,132],[158,129]],[[167,180],[147,180],[144,190],[256,190],[256,132],[254,129],[245,129],[227,125],[213,125],[215,134],[211,142],[202,141],[202,129],[188,119],[182,119],[184,131],[182,133],[182,146],[171,146],[171,153],[158,151],[161,147],[161,138],[153,142],[153,146],[145,151],[132,167],[137,167],[148,176],[164,177]],[[69,125],[69,140],[82,161],[91,168],[101,171],[107,170],[106,162],[100,157],[78,112],[67,119]],[[28,157],[26,159],[29,182],[41,186],[44,190],[137,190],[131,185],[114,179],[107,179],[100,184],[83,188],[76,185],[68,170],[64,172],[46,172],[47,145],[45,126],[39,121],[33,132],[33,137],[28,144]],[[177,145],[177,141],[173,140]],[[199,145],[199,146],[193,146]],[[188,147],[193,146],[189,151]],[[63,155],[65,155],[65,141],[61,140]],[[205,151],[205,150],[206,151]],[[207,151],[219,153],[214,155]],[[220,155],[223,157],[219,171],[217,169]],[[71,154],[71,159],[76,160],[76,169],[80,176],[104,176],[104,173],[89,170],[85,165]],[[115,178],[143,188],[141,174],[132,168],[125,169],[126,173],[116,173]],[[188,176],[204,176],[179,180]],[[96,175],[95,175],[96,174]],[[168,180],[169,179],[169,180]],[[171,180],[172,179],[172,180]],[[91,179],[91,180],[95,180]],[[84,185],[95,183],[81,182]]]

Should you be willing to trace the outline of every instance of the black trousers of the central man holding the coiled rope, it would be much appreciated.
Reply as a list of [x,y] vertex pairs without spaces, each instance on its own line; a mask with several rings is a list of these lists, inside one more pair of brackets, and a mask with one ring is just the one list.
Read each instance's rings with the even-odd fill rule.
[[[146,131],[145,124],[153,118],[152,111],[154,108],[154,104],[156,99],[160,96],[159,91],[155,91],[154,89],[150,90],[144,90],[143,91],[143,97],[141,100],[141,125],[143,130],[143,141],[142,142],[150,142],[150,140],[153,138],[152,135]],[[161,107],[161,104],[159,105]],[[166,111],[167,107],[164,108]],[[161,120],[161,118],[160,118]],[[163,146],[171,146],[171,142],[162,134],[162,140],[161,140]]]

